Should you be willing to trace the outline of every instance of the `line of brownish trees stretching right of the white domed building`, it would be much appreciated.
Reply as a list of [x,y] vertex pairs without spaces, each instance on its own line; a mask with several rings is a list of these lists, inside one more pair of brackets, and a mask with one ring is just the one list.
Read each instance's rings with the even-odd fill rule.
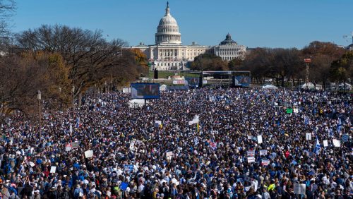
[[246,55],[244,60],[222,61],[220,56],[201,54],[191,64],[198,71],[251,71],[253,80],[264,83],[265,79],[276,80],[277,85],[285,86],[303,83],[305,79],[304,59],[311,58],[309,80],[316,85],[322,83],[325,88],[329,82],[352,80],[353,52],[347,51],[330,42],[311,42],[299,50],[256,48]]

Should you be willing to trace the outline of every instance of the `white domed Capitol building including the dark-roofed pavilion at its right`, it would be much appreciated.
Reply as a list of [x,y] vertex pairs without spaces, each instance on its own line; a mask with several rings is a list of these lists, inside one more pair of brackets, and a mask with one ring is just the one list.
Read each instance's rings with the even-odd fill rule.
[[160,19],[155,34],[155,45],[146,46],[142,42],[133,49],[140,49],[149,61],[151,70],[160,71],[188,70],[188,62],[200,54],[215,54],[223,60],[230,61],[234,58],[244,59],[246,46],[238,45],[227,35],[225,40],[217,46],[203,46],[193,42],[191,45],[181,44],[181,34],[177,20],[170,14],[169,3],[165,8],[165,15]]

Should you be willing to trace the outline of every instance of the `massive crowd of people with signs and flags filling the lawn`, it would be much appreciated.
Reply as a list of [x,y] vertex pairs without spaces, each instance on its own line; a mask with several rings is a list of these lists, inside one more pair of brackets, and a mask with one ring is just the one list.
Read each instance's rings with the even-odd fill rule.
[[[121,92],[1,124],[0,198],[352,198],[352,96]],[[91,157],[92,155],[92,157]]]

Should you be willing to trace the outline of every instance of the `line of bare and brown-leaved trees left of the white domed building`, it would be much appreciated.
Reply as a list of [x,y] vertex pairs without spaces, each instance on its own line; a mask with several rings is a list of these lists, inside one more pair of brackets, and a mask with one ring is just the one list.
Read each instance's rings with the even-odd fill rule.
[[[123,40],[107,41],[100,30],[42,25],[14,35],[14,53],[0,56],[1,116],[13,111],[32,115],[36,92],[45,106],[65,109],[89,88],[127,85],[148,72],[146,57],[126,49]],[[75,88],[72,93],[72,88]],[[73,95],[72,95],[73,94]]]

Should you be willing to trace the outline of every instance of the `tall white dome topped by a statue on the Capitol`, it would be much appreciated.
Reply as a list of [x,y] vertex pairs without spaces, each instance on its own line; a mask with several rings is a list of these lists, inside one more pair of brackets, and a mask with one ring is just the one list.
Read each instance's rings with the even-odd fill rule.
[[165,8],[165,15],[160,19],[155,34],[155,44],[181,44],[181,34],[177,20],[170,14],[169,2]]

